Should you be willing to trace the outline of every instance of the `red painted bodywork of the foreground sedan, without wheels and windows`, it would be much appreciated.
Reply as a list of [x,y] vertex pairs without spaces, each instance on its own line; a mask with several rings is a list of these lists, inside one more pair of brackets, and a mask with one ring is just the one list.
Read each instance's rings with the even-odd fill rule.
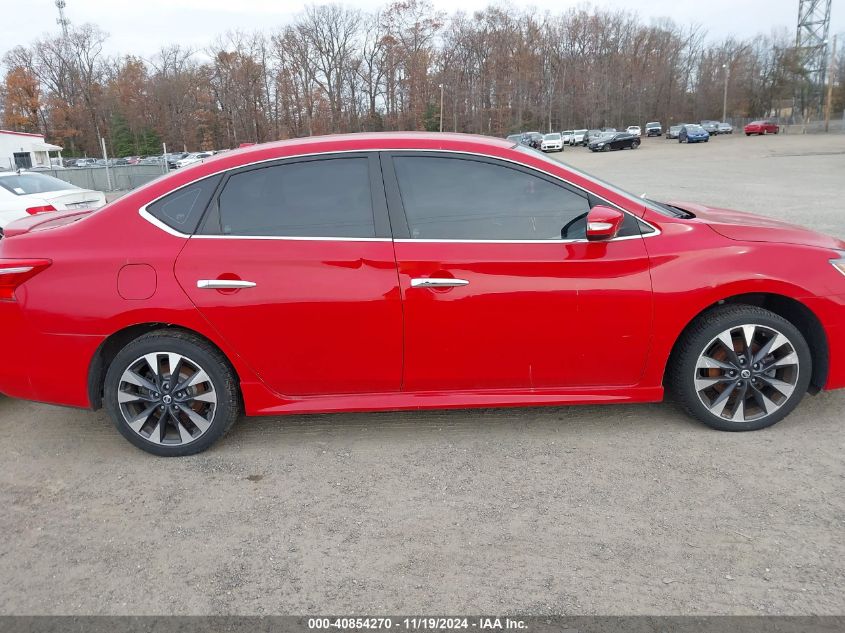
[[[518,163],[653,231],[604,242],[208,239],[143,212],[183,185],[262,161],[421,151]],[[390,191],[382,206],[392,209]],[[358,134],[230,151],[97,212],[7,228],[0,273],[35,269],[0,300],[0,392],[96,408],[115,350],[160,326],[222,351],[249,415],[656,401],[687,325],[737,297],[799,315],[817,354],[815,388],[845,387],[845,276],[830,265],[845,243],[763,217],[675,206],[693,217],[658,213],[539,153],[477,136]],[[426,277],[469,283],[413,287]],[[198,279],[257,285],[209,291]]]

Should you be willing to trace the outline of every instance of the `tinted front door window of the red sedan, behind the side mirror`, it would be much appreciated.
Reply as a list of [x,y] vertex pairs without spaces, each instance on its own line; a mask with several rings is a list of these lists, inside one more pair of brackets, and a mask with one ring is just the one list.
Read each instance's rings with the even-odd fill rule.
[[583,228],[579,235],[571,231],[584,224],[587,198],[538,176],[459,158],[397,156],[393,162],[412,238],[583,237]]

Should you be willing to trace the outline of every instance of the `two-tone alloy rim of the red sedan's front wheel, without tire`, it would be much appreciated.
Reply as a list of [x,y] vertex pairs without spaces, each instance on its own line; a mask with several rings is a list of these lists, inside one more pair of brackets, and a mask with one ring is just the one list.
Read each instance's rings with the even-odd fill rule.
[[733,422],[765,418],[798,384],[799,357],[784,334],[763,325],[724,330],[695,365],[695,391],[711,414]]

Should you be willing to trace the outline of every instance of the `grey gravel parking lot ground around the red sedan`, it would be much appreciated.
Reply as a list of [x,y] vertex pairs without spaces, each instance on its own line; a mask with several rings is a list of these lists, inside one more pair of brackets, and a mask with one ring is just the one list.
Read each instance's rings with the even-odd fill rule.
[[[845,237],[845,135],[553,156]],[[0,397],[0,613],[841,614],[843,411],[252,418],[161,459],[102,411]]]

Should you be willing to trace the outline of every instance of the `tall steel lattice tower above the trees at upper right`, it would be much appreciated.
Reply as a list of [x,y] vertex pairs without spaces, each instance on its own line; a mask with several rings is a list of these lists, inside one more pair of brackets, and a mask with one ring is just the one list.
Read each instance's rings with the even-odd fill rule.
[[808,110],[821,112],[827,69],[830,4],[831,0],[798,0],[798,32],[795,47],[808,84],[802,95],[805,114]]

